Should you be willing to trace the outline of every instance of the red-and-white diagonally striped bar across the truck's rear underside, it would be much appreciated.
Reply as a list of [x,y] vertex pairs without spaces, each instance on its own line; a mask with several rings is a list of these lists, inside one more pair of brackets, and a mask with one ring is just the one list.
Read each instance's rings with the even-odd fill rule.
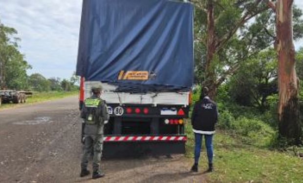
[[186,142],[186,136],[105,136],[107,142]]

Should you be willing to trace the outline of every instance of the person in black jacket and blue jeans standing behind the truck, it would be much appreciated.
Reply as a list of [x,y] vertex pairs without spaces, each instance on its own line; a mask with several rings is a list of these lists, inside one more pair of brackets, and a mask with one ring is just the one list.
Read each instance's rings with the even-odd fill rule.
[[198,171],[198,162],[201,151],[202,136],[205,138],[205,146],[208,157],[208,172],[213,171],[213,135],[218,119],[216,103],[208,97],[209,89],[204,87],[199,101],[195,102],[192,114],[192,125],[195,133],[195,164],[192,171]]

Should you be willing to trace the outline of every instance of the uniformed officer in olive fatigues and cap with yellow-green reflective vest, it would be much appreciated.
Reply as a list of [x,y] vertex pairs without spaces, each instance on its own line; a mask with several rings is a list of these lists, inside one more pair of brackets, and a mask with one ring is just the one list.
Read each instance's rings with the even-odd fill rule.
[[100,169],[100,161],[102,155],[103,146],[103,127],[104,122],[108,121],[109,115],[107,105],[104,100],[101,100],[101,86],[95,86],[92,88],[92,96],[87,98],[84,102],[84,106],[81,110],[81,118],[85,120],[85,149],[81,161],[81,174],[80,177],[84,177],[90,174],[87,170],[88,157],[93,149],[93,173],[92,178],[98,179],[105,174]]

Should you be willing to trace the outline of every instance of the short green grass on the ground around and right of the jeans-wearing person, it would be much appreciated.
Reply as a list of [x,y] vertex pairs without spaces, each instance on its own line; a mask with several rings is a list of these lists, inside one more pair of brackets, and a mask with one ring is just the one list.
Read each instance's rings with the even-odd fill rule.
[[[194,157],[194,137],[187,124],[188,158]],[[234,136],[234,135],[233,135]],[[240,138],[218,131],[214,137],[215,172],[207,174],[215,183],[302,183],[303,159],[266,147],[243,144]],[[207,156],[203,146],[199,163],[201,171],[207,169]]]

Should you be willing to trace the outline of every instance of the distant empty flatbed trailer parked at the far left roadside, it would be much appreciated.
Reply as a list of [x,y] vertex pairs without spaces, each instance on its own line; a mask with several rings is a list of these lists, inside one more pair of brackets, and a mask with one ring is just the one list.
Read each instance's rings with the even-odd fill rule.
[[32,92],[15,91],[15,90],[0,90],[0,105],[1,103],[25,103],[27,95],[32,95]]

